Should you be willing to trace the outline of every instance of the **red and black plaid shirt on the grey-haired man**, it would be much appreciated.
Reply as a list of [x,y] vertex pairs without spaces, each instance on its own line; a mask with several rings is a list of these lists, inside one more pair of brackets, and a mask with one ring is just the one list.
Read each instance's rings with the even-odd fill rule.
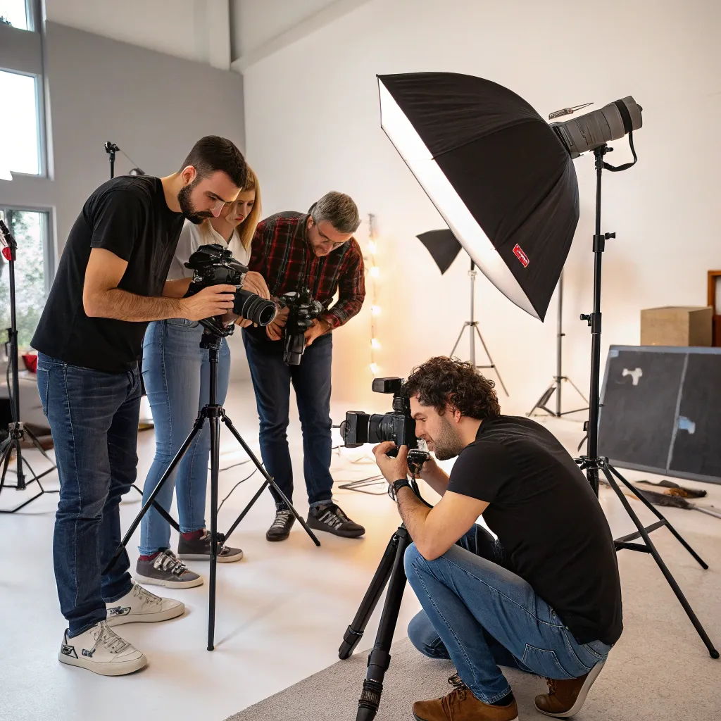
[[[340,327],[361,310],[366,298],[363,253],[355,238],[317,257],[306,237],[308,215],[277,213],[260,221],[248,267],[265,278],[270,294],[300,292],[304,286],[327,311],[322,319]],[[332,308],[333,296],[338,300]]]

